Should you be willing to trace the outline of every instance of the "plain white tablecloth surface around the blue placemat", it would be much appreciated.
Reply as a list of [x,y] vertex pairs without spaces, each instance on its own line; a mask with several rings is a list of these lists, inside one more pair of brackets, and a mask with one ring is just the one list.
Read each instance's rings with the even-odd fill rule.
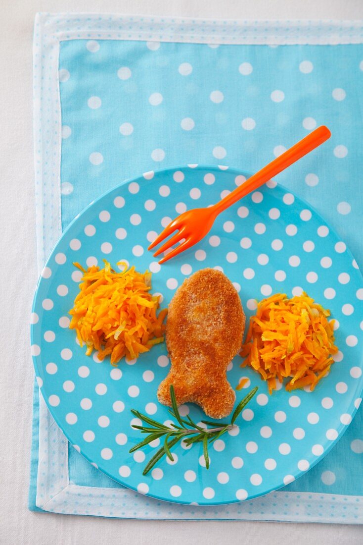
[[[32,33],[37,11],[91,11],[224,19],[363,19],[361,0],[2,0],[0,35],[0,157],[2,159],[1,300],[8,310],[0,396],[4,545],[71,542],[147,543],[361,543],[362,526],[261,522],[151,522],[32,513],[27,510],[33,368],[28,318],[36,283],[32,138]],[[21,276],[16,274],[22,271]],[[15,337],[15,338],[14,338]],[[5,346],[4,346],[5,348]],[[5,368],[4,368],[5,364]],[[287,528],[288,526],[288,528]]]

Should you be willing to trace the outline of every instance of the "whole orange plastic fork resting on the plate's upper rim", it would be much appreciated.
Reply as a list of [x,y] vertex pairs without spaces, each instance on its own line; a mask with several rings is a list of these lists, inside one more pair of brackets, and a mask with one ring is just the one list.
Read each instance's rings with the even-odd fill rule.
[[169,225],[165,227],[164,231],[158,235],[153,243],[150,244],[149,250],[161,243],[165,238],[169,237],[174,231],[177,231],[177,233],[159,247],[154,253],[154,256],[158,256],[162,252],[165,252],[165,250],[168,250],[174,244],[181,243],[159,261],[159,263],[165,263],[168,259],[178,255],[178,253],[187,250],[190,246],[193,246],[205,237],[211,230],[218,214],[232,204],[235,204],[235,202],[239,201],[242,197],[248,195],[251,191],[257,189],[257,187],[266,183],[294,162],[304,157],[304,155],[320,146],[320,144],[330,138],[330,134],[330,130],[324,125],[318,127],[315,131],[312,131],[309,135],[305,136],[303,140],[300,140],[297,144],[292,146],[292,148],[287,149],[286,152],[261,168],[259,172],[253,174],[242,185],[237,187],[237,189],[224,197],[222,201],[213,204],[213,206],[209,208],[194,208],[193,210],[187,210],[176,217],[175,220],[171,221]]

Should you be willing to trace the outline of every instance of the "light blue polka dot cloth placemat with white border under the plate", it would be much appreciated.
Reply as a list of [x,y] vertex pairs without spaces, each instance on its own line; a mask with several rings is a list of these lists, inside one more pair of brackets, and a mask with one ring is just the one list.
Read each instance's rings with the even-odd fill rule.
[[[362,41],[358,23],[39,15],[39,265],[60,225],[122,180],[196,162],[254,172],[321,124],[330,140],[278,181],[315,207],[362,265]],[[35,386],[31,473],[33,510],[362,523],[363,413],[322,462],[282,491],[188,509],[133,493],[92,467],[54,429]]]

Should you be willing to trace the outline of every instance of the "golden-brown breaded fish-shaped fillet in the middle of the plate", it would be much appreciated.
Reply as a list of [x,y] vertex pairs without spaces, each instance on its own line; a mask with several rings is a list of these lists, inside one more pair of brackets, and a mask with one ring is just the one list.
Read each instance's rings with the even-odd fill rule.
[[245,316],[236,289],[215,269],[202,269],[184,280],[170,301],[166,341],[170,372],[159,385],[160,403],[200,405],[207,416],[230,414],[236,394],[226,368],[241,348]]

